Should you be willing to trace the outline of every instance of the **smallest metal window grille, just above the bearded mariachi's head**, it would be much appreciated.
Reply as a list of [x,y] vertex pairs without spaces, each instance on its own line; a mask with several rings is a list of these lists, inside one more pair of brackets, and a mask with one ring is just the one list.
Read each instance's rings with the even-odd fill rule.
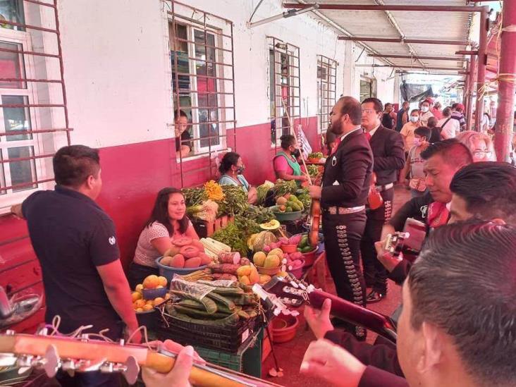
[[328,130],[330,112],[336,102],[337,64],[326,56],[317,56],[317,116],[321,133]]

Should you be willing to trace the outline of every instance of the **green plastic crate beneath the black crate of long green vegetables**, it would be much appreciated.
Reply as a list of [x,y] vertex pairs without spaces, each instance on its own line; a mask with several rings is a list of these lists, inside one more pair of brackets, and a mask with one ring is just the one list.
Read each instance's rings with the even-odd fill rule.
[[195,347],[195,350],[200,357],[209,363],[261,378],[263,331],[262,328],[248,338],[236,353],[211,350],[202,347]]

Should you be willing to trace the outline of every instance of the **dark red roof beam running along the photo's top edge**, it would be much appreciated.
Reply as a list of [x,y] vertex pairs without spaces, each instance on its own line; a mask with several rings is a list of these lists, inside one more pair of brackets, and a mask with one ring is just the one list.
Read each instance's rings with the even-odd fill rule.
[[[307,8],[314,4],[285,3],[283,8]],[[482,12],[483,6],[376,6],[371,4],[319,4],[319,10],[340,11],[410,11],[410,12]]]

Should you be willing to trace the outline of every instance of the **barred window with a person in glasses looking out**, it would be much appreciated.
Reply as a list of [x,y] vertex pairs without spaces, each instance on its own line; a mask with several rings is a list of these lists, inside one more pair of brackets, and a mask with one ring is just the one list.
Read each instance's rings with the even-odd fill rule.
[[202,166],[192,168],[179,152],[183,187],[189,174],[216,176],[214,159],[228,150],[228,130],[236,148],[233,23],[175,0],[168,4],[173,106],[187,114],[191,136],[182,139],[174,122],[176,141],[190,147],[188,156],[205,156]]

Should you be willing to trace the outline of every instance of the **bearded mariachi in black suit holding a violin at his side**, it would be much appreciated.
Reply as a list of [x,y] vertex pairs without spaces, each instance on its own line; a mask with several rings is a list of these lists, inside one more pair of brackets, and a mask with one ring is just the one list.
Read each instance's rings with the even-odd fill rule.
[[[373,170],[373,154],[360,126],[362,107],[342,97],[330,114],[337,135],[336,151],[324,166],[322,188],[312,185],[310,196],[321,199],[326,259],[339,297],[365,306],[365,285],[360,268],[360,240],[366,223],[365,203]],[[359,340],[366,331],[345,325]]]

